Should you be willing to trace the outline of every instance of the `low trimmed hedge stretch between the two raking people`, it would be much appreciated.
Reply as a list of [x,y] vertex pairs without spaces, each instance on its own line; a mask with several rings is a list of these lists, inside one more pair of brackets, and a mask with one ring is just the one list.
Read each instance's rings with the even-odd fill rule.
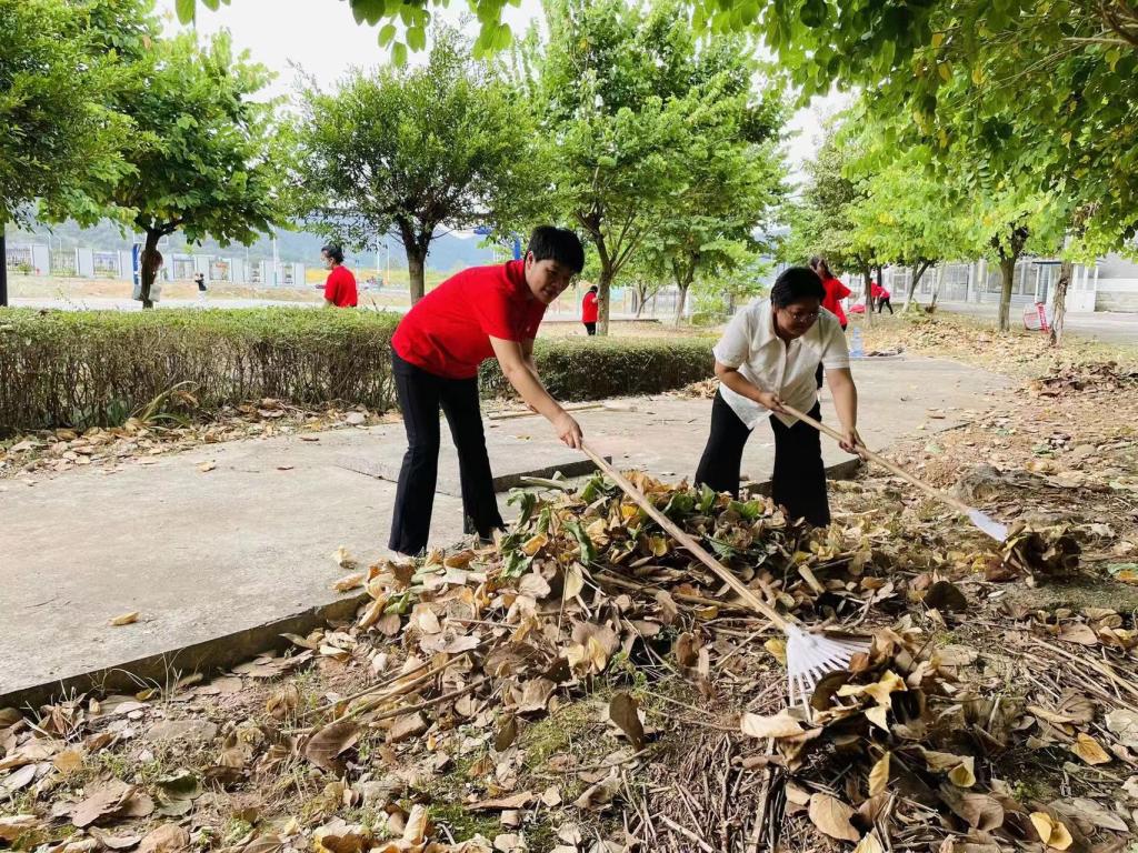
[[[659,394],[711,375],[710,338],[568,338],[537,340],[534,361],[560,400]],[[512,396],[497,362],[483,364],[484,397]]]

